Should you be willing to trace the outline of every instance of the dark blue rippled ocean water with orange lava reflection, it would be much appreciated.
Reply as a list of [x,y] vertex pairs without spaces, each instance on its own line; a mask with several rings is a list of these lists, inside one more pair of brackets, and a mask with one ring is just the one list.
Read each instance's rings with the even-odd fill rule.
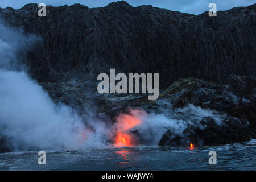
[[[216,165],[209,164],[209,151],[216,151]],[[193,150],[139,146],[46,151],[46,165],[39,165],[38,158],[38,152],[0,154],[0,170],[256,170],[256,140]]]

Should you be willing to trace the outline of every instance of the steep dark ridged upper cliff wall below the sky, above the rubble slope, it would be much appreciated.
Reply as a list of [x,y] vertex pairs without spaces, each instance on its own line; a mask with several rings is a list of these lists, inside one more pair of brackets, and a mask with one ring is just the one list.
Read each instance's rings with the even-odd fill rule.
[[231,73],[255,76],[256,4],[209,17],[125,1],[89,9],[83,5],[38,5],[0,9],[7,24],[43,39],[25,60],[39,82],[55,82],[67,71],[159,73],[167,88],[178,78],[228,82]]

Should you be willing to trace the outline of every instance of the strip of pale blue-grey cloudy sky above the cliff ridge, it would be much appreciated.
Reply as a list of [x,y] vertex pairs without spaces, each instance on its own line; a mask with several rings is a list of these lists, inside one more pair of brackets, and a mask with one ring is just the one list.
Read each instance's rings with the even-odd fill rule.
[[[52,6],[73,5],[80,3],[88,7],[103,7],[114,0],[0,0],[0,7],[13,7],[19,9],[27,3],[45,3]],[[180,11],[191,14],[201,14],[209,11],[209,3],[216,3],[217,11],[228,10],[238,6],[249,6],[255,3],[255,0],[127,0],[131,6],[152,5],[162,7],[172,11]]]

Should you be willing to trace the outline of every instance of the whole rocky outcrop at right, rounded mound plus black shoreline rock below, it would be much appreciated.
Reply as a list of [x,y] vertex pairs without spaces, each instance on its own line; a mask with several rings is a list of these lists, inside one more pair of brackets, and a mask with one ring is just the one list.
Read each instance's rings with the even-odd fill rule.
[[225,144],[256,138],[256,79],[232,75],[231,80],[229,85],[221,86],[195,78],[180,79],[162,92],[160,98],[170,102],[172,107],[193,104],[218,112],[221,124],[215,117],[205,117],[200,121],[200,127],[190,125],[180,135],[168,130],[159,146],[186,146],[190,142],[197,145]]

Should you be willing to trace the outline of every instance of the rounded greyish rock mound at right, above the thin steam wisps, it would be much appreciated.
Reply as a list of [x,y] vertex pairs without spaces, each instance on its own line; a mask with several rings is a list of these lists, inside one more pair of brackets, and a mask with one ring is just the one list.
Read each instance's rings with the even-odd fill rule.
[[255,126],[256,79],[236,75],[231,77],[232,81],[225,86],[195,78],[179,79],[159,97],[166,98],[173,107],[193,104],[247,119]]

